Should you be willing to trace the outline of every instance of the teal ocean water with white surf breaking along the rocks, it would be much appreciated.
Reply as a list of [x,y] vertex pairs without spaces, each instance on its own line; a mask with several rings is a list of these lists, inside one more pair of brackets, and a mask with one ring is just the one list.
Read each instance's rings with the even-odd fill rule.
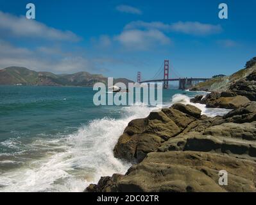
[[[82,192],[129,163],[113,149],[132,119],[153,106],[94,106],[92,88],[0,86],[0,192]],[[163,106],[198,92],[164,90]],[[202,93],[205,94],[205,93]],[[208,116],[228,110],[198,106]]]

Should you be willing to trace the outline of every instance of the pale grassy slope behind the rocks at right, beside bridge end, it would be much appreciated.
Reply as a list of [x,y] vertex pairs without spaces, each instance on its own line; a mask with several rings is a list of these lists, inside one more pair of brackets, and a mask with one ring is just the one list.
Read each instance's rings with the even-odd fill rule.
[[256,72],[256,57],[246,62],[244,69],[241,69],[231,76],[219,76],[209,79],[191,88],[191,90],[226,91],[237,81],[246,80],[250,74]]

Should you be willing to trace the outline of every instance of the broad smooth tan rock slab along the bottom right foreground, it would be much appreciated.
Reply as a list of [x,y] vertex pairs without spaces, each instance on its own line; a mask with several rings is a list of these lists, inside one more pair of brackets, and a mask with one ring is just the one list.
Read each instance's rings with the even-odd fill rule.
[[[228,172],[228,186],[219,185],[220,170]],[[255,162],[229,156],[151,152],[124,176],[94,186],[109,192],[256,192],[255,171]]]

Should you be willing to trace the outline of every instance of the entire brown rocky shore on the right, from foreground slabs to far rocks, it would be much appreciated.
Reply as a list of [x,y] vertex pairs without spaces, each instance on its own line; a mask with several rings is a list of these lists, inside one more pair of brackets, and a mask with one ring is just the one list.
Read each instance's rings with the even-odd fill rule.
[[[232,109],[224,116],[176,103],[132,120],[114,148],[132,167],[101,177],[85,192],[256,192],[255,76],[191,100]],[[226,186],[219,184],[220,170],[228,173]]]

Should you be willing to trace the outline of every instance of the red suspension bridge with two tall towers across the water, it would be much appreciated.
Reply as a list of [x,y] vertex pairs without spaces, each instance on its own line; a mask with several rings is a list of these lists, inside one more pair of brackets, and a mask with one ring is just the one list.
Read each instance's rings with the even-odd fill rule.
[[[177,78],[169,78],[169,74],[173,72]],[[164,76],[164,78],[160,78],[160,76]],[[161,65],[160,69],[157,71],[155,76],[152,79],[142,81],[141,72],[137,73],[137,82],[138,83],[151,83],[151,82],[163,82],[164,89],[169,88],[169,81],[178,81],[180,90],[189,89],[192,86],[205,82],[209,78],[181,78],[180,75],[177,74],[175,69],[170,67],[169,60],[164,60],[163,65]]]

